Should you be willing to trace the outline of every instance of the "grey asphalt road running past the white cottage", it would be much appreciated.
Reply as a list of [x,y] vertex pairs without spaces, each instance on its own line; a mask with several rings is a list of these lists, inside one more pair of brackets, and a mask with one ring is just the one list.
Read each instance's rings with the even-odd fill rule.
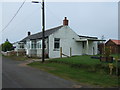
[[72,88],[75,85],[23,63],[2,58],[2,88]]

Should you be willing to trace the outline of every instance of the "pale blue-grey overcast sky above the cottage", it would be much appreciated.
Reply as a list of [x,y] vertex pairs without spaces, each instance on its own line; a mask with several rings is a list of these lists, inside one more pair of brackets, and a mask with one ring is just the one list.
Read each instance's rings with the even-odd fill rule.
[[[24,1],[24,0],[22,0]],[[0,25],[4,28],[14,16],[22,2],[0,3]],[[1,9],[2,8],[2,9]],[[62,25],[64,17],[77,34],[95,36],[101,39],[118,39],[118,3],[117,2],[46,2],[46,29]],[[1,14],[2,13],[2,14]],[[26,2],[14,20],[2,31],[2,41],[20,41],[41,31],[41,4]]]

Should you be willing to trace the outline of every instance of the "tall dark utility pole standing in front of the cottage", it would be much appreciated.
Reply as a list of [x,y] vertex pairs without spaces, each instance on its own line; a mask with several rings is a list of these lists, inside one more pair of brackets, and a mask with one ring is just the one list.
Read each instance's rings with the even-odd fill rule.
[[42,0],[42,62],[45,59],[45,7],[44,0]]

